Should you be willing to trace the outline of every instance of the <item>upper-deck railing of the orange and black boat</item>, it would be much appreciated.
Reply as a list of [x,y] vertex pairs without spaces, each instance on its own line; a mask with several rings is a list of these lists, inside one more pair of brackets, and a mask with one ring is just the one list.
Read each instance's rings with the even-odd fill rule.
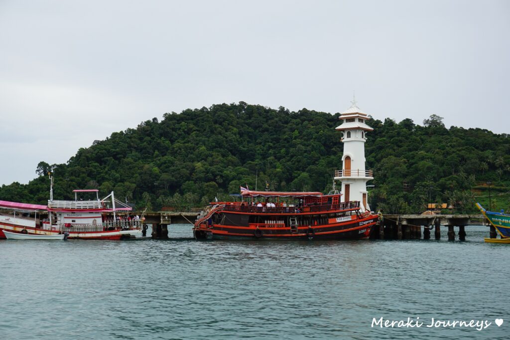
[[307,205],[302,207],[257,207],[251,205],[225,205],[224,211],[270,214],[296,214],[335,210],[349,210],[360,207],[359,201],[341,202],[337,204]]

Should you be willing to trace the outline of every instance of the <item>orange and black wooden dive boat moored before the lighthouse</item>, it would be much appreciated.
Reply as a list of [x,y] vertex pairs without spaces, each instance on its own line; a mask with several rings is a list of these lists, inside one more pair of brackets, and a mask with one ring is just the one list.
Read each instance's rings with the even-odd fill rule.
[[341,202],[341,193],[251,191],[240,202],[216,202],[198,216],[201,239],[365,239],[378,216],[360,212],[360,202]]

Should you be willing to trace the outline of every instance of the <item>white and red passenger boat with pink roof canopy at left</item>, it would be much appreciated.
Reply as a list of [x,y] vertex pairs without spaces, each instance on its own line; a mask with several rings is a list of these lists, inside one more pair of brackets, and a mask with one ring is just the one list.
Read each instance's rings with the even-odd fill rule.
[[[118,201],[113,191],[99,199],[97,189],[73,190],[74,201],[53,199],[53,176],[50,174],[48,205],[0,201],[0,238],[8,232],[33,235],[59,235],[68,238],[123,239],[142,236],[139,218],[117,218],[117,212],[132,208]],[[94,195],[95,193],[95,195]],[[95,199],[79,199],[79,195]],[[110,216],[113,216],[111,218]]]

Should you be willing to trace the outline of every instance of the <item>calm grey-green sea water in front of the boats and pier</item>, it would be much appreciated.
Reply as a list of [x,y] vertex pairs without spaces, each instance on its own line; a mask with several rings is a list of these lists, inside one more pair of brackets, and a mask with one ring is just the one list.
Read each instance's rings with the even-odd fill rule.
[[[467,227],[465,242],[446,228],[440,241],[196,241],[189,225],[170,229],[183,238],[0,240],[0,338],[510,338],[510,245],[485,244],[487,227]],[[423,325],[371,327],[381,317]]]

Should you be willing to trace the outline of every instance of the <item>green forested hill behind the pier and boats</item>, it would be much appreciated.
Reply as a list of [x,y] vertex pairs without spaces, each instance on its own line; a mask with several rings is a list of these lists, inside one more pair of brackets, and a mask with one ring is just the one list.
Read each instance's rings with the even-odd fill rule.
[[[260,105],[221,104],[166,113],[136,129],[114,132],[82,148],[67,164],[41,160],[29,184],[0,188],[0,200],[47,202],[48,169],[55,172],[54,197],[71,199],[75,188],[98,188],[138,208],[202,206],[239,192],[239,185],[271,190],[330,189],[341,169],[339,114],[290,112]],[[366,143],[372,209],[422,212],[426,203],[451,203],[474,211],[473,201],[508,209],[510,138],[487,130],[444,127],[432,115],[424,126],[370,119]],[[479,196],[479,197],[476,197]]]

